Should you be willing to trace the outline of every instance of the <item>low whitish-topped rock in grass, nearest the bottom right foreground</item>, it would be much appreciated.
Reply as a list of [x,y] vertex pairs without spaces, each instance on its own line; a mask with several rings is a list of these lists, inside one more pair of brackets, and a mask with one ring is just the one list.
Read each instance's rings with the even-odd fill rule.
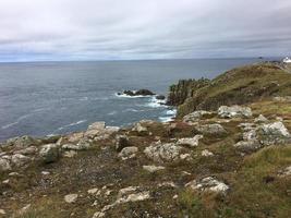
[[216,193],[221,193],[221,194],[226,194],[227,191],[229,190],[229,186],[227,184],[218,181],[217,179],[213,177],[207,177],[199,181],[193,180],[190,183],[185,184],[185,186],[191,187],[193,190],[198,190],[202,192],[210,191],[210,192],[216,192]]

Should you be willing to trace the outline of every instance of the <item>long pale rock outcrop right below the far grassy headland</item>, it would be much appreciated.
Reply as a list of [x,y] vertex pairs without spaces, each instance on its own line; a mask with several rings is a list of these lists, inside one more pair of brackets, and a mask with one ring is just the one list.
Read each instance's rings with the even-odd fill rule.
[[220,106],[218,109],[220,118],[251,118],[253,116],[252,109],[242,106]]

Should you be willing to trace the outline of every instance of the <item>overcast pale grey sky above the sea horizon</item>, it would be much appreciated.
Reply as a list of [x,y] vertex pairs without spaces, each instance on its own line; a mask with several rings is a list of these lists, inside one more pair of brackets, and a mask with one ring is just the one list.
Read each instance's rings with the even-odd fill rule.
[[291,0],[0,0],[0,61],[291,56]]

